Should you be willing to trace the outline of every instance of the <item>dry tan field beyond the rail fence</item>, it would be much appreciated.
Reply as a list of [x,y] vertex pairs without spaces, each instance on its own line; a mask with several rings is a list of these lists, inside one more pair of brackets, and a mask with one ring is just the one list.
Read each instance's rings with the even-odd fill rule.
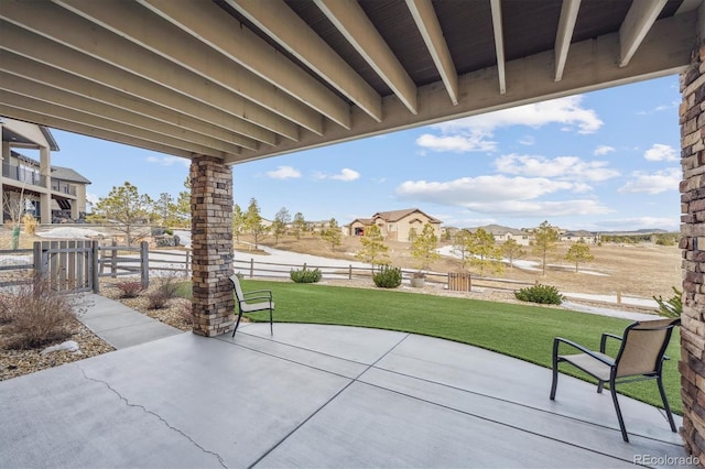
[[[248,237],[242,237],[248,241]],[[294,237],[267,238],[261,244],[327,258],[355,260],[354,253],[360,248],[357,238],[344,237],[343,244],[332,249],[329,243],[311,236],[296,240]],[[447,244],[447,243],[445,243]],[[388,241],[392,264],[400,268],[417,269],[419,264],[410,253],[410,244],[405,242]],[[442,243],[443,246],[443,243]],[[590,246],[590,253],[595,260],[581,264],[578,272],[575,265],[564,257],[570,243],[561,243],[547,261],[546,275],[541,272],[540,259],[531,253],[531,248],[524,250],[527,254],[520,261],[536,262],[534,269],[527,270],[519,266],[507,266],[503,273],[491,275],[495,277],[517,280],[527,283],[540,282],[554,285],[560,291],[573,293],[589,293],[601,295],[636,296],[651,298],[661,295],[664,298],[673,296],[673,286],[681,288],[681,250],[673,247],[655,246],[651,243]],[[443,258],[431,265],[434,272],[458,272],[460,263],[457,259]],[[471,272],[477,274],[477,272]],[[489,276],[489,275],[488,275]]]

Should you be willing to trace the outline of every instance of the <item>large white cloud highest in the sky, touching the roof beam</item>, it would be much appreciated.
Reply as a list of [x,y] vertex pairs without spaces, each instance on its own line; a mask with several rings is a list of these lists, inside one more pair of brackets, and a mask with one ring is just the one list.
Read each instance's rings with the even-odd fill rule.
[[[497,142],[491,139],[498,128],[528,126],[538,129],[558,123],[566,131],[596,132],[603,121],[593,109],[582,107],[582,96],[570,96],[437,123],[431,128],[440,130],[443,137],[426,133],[416,140],[416,144],[436,152],[486,152],[497,149]],[[522,141],[527,142],[525,138]]]

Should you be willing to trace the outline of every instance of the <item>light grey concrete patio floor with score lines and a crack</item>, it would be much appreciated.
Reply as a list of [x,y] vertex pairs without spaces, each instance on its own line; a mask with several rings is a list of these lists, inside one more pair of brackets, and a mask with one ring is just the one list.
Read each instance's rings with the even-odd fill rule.
[[[546,345],[550,352],[551,345]],[[673,467],[657,408],[487,350],[403,332],[247,324],[0,382],[0,466]],[[681,418],[676,417],[680,425]]]

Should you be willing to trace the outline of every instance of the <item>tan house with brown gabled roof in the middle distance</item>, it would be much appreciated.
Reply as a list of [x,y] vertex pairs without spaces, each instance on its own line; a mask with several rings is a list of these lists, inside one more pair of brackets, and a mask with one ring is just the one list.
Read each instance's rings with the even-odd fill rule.
[[367,228],[377,225],[386,239],[410,242],[409,234],[411,230],[415,229],[416,233],[420,234],[426,223],[433,226],[435,234],[441,239],[441,220],[424,214],[417,208],[378,211],[371,218],[356,218],[346,226],[346,234],[364,236]]

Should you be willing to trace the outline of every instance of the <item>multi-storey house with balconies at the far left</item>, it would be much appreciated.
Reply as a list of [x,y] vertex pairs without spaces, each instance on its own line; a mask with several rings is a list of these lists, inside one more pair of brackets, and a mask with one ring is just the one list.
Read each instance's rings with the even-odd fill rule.
[[[50,130],[9,118],[0,118],[0,199],[3,208],[0,225],[10,219],[7,205],[22,195],[25,212],[41,223],[84,219],[86,186],[90,181],[68,167],[52,166],[51,152],[58,151],[58,145]],[[39,161],[20,153],[22,150],[39,150]]]

